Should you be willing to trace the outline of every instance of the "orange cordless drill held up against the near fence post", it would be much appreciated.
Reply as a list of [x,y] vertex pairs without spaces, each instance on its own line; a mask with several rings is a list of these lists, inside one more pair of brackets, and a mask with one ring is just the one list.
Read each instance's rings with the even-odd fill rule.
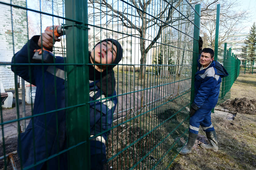
[[[46,27],[45,31],[54,32],[54,35],[57,37],[65,35],[65,29],[61,25]],[[55,56],[50,49],[43,47],[43,49],[35,49],[34,52],[32,63],[42,63],[42,61],[43,63],[53,63]]]

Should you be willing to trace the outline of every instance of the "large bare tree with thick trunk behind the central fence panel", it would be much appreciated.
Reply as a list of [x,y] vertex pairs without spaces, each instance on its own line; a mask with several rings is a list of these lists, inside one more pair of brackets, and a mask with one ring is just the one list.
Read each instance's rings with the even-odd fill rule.
[[[121,22],[125,27],[136,30],[136,34],[139,34],[141,51],[140,78],[142,79],[145,77],[145,64],[149,50],[154,47],[156,42],[159,42],[158,39],[167,27],[176,25],[179,20],[181,22],[186,20],[186,16],[180,15],[176,10],[179,6],[187,4],[183,0],[129,0],[127,4],[122,5],[122,8],[119,8],[118,1],[89,0],[88,2],[88,6],[93,8],[89,18],[93,18],[94,22],[97,19],[100,20],[110,16],[106,24]],[[150,34],[149,31],[151,29],[156,30],[157,33],[155,35]],[[147,35],[149,34],[153,36],[150,42],[147,41]]]

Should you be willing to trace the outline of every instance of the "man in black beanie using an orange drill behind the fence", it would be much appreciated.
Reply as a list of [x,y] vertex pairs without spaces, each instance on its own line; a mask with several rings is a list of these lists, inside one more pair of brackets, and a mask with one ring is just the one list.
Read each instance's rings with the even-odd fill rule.
[[[56,57],[56,65],[30,65],[35,49],[51,49],[54,41],[60,41],[52,32],[32,37],[12,58],[12,71],[36,86],[31,118],[26,131],[18,138],[18,154],[23,168],[67,169],[66,72],[65,58]],[[113,67],[122,59],[122,47],[113,39],[105,39],[89,53],[91,169],[103,169],[106,163],[106,141],[117,104]],[[24,64],[24,63],[27,63]],[[20,65],[19,65],[20,64]],[[94,65],[95,64],[95,65]],[[97,65],[101,64],[101,65]],[[109,65],[111,64],[111,65]],[[83,88],[83,87],[81,87]],[[56,92],[56,93],[55,93]],[[58,111],[54,111],[60,109]],[[61,110],[62,109],[62,110]],[[52,112],[53,111],[53,112]],[[40,115],[38,115],[40,114]],[[85,113],[87,114],[87,113]],[[81,132],[82,134],[82,132]],[[55,155],[55,156],[52,156]],[[51,156],[51,157],[50,157]]]

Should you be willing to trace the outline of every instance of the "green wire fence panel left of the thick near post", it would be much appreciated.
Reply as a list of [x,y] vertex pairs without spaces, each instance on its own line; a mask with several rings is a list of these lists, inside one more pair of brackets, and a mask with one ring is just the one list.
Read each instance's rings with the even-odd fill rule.
[[[40,34],[41,29],[44,30],[47,26],[65,23],[63,3],[56,3],[53,1],[45,2],[49,7],[47,11],[43,10],[43,7],[45,6],[43,6],[42,3],[43,1],[39,1],[37,6],[35,3],[31,2],[29,4],[29,2],[27,3],[25,0],[0,2],[1,9],[5,10],[6,12],[5,17],[8,19],[9,17],[11,18],[6,23],[1,24],[2,27],[6,27],[6,29],[1,32],[1,35],[6,37],[9,35],[12,37],[11,42],[9,41],[9,38],[3,40],[3,42],[8,43],[8,46],[13,48],[12,50],[9,48],[6,48],[4,51],[1,50],[1,56],[5,55],[6,60],[8,61],[1,61],[1,65],[11,65],[11,67],[8,68],[8,74],[12,75],[14,72],[13,83],[15,82],[15,89],[8,92],[8,98],[5,99],[4,102],[11,100],[12,107],[13,99],[11,98],[12,95],[10,94],[14,93],[13,96],[15,97],[16,105],[13,109],[3,109],[1,106],[0,168],[3,169],[11,168],[11,165],[8,165],[9,162],[12,163],[13,169],[15,168],[15,164],[16,168],[18,169],[30,169],[36,167],[39,168],[44,163],[45,164],[43,166],[45,169],[51,169],[53,167],[51,167],[49,162],[53,159],[55,159],[54,169],[62,169],[62,155],[66,154],[67,150],[69,150],[69,148],[60,145],[63,144],[61,143],[61,140],[63,139],[61,137],[66,135],[65,127],[64,129],[62,127],[63,124],[65,124],[65,121],[62,120],[66,115],[65,109],[67,105],[65,102],[59,102],[63,101],[63,98],[65,97],[65,92],[63,91],[65,88],[63,88],[63,86],[66,85],[65,79],[67,77],[65,74],[63,74],[65,71],[62,67],[64,67],[63,65],[66,65],[66,63],[56,63],[58,59],[52,57],[52,54],[50,53],[47,54],[52,57],[52,63],[33,61],[32,57],[34,56],[34,51],[32,48],[41,48],[38,46],[38,43],[33,42],[33,40],[29,41],[26,46],[22,48],[22,46],[28,41],[28,37],[31,38],[36,34]],[[55,10],[60,10],[62,12],[56,12]],[[39,21],[39,23],[35,24],[36,21]],[[37,33],[35,33],[36,29],[38,31]],[[36,39],[38,37],[34,38]],[[23,42],[22,45],[19,43],[20,41]],[[62,38],[61,45],[65,44],[64,41],[65,38]],[[63,47],[54,47],[53,52],[55,54],[57,51],[59,51],[57,49],[61,49],[62,51]],[[9,57],[9,53],[12,53],[12,56],[14,53],[17,54],[12,60],[12,56]],[[41,55],[42,58],[46,56],[46,53]],[[63,56],[65,57],[65,50],[63,50]],[[11,71],[11,68],[13,72]],[[3,78],[1,78],[1,83],[3,79],[9,78],[8,74],[3,75]],[[20,77],[17,75],[26,80],[26,103],[28,105],[25,105],[24,102],[25,91],[22,91],[23,104],[19,105],[19,100],[21,98],[21,94],[19,94],[19,92],[21,89],[19,87]],[[51,81],[48,79],[49,75],[51,75]],[[61,84],[60,79],[63,81]],[[33,86],[32,84],[37,85],[37,87]],[[35,90],[36,88],[37,90]],[[1,94],[2,92],[3,91],[1,88]],[[51,96],[51,98],[49,98],[49,96]],[[40,107],[38,107],[38,103],[40,103]],[[24,109],[26,114],[21,114],[21,108]],[[23,129],[25,129],[26,126],[28,126],[28,128],[24,131]],[[53,134],[55,134],[56,140],[54,143],[51,143],[49,139],[54,139],[52,136]],[[19,136],[19,138],[17,138],[17,136]],[[26,140],[24,140],[24,138],[26,138]],[[9,144],[9,147],[5,145],[5,141]],[[39,145],[39,143],[42,145]],[[19,146],[18,148],[17,144]],[[55,148],[48,149],[51,148],[51,145],[54,145]],[[63,147],[65,148],[64,150]],[[19,159],[17,158],[17,151],[20,155]],[[23,153],[30,153],[30,155],[28,157],[23,157],[21,156]],[[3,164],[2,159],[4,160]],[[29,160],[29,164],[23,164],[24,161]]]

